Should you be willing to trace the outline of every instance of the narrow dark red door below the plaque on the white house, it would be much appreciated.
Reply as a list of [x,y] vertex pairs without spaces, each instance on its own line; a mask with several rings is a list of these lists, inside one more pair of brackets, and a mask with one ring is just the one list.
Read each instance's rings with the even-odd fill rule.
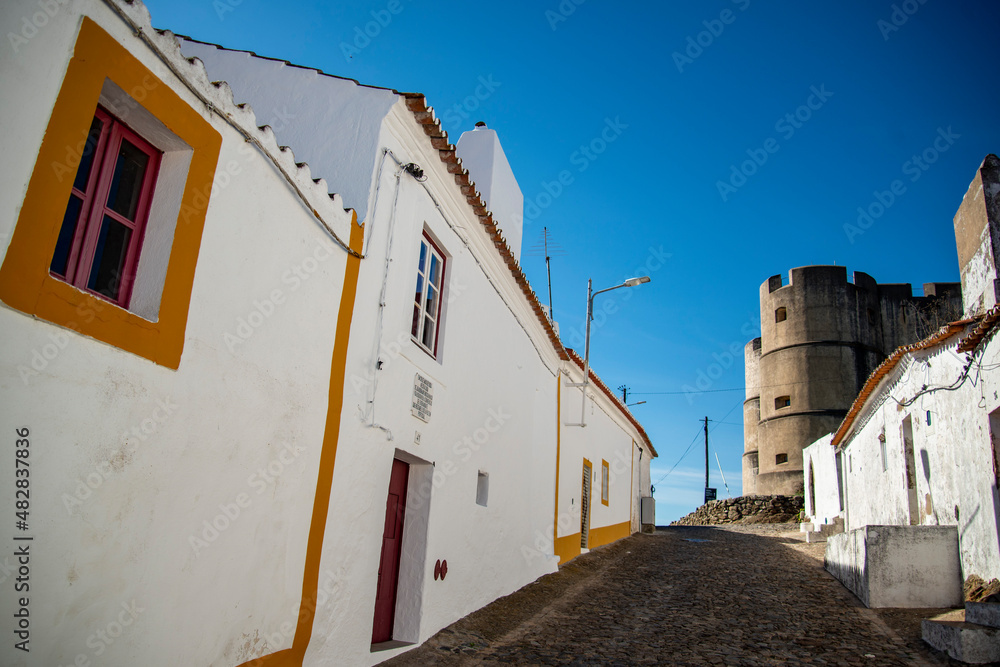
[[399,579],[399,554],[403,545],[403,514],[406,509],[406,479],[410,466],[392,461],[389,497],[385,501],[385,528],[382,531],[382,555],[378,562],[378,588],[375,591],[375,623],[372,643],[392,639],[392,621],[396,615],[396,582]]

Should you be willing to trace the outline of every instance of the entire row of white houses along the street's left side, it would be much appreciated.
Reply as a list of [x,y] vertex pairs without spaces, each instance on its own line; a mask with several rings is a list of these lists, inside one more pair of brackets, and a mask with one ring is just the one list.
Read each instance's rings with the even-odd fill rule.
[[593,374],[572,425],[499,143],[495,221],[422,95],[182,54],[138,2],[0,26],[4,664],[374,664],[639,530],[655,450]]

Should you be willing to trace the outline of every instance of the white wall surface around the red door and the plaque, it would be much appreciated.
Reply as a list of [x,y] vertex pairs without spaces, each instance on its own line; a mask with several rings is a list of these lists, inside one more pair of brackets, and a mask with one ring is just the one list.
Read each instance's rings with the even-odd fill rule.
[[[527,559],[522,554],[522,547],[534,544],[536,531],[543,531],[552,516],[556,353],[455,187],[453,175],[402,100],[386,119],[382,145],[401,162],[415,162],[425,170],[427,188],[441,209],[409,174],[403,173],[397,184],[397,164],[386,158],[366,230],[368,256],[351,332],[321,567],[321,577],[343,583],[336,599],[317,615],[306,664],[375,663],[398,652],[370,652],[394,457],[429,464],[419,470],[411,466],[397,638],[422,642],[465,614],[554,571],[556,565],[551,558]],[[448,255],[437,359],[410,339],[425,229]],[[393,261],[386,272],[390,233]],[[380,315],[383,281],[386,297]],[[381,341],[378,371],[376,340]],[[426,423],[411,414],[416,373],[433,383]],[[372,378],[377,381],[374,391]],[[368,402],[372,398],[373,404]],[[476,504],[480,470],[489,475],[486,507]],[[448,561],[444,581],[433,577],[439,559]],[[417,571],[410,571],[414,567]]]

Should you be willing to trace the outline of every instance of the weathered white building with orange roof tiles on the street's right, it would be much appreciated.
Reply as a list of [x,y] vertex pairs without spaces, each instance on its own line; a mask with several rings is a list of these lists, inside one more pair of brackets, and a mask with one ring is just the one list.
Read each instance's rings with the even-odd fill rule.
[[[938,598],[948,604],[961,594],[962,579],[1000,577],[998,175],[1000,161],[987,156],[955,215],[966,319],[896,350],[868,378],[837,432],[805,452],[807,514],[818,523],[842,517],[847,531],[828,545],[828,565],[842,578],[897,570],[905,581],[897,582],[903,593],[893,593],[902,596],[894,606],[944,606],[918,604],[929,587],[921,565],[947,569],[945,561],[957,561],[956,579]],[[924,556],[916,565],[873,562],[864,553],[870,538],[858,531],[870,535],[878,526],[913,527],[891,533],[892,548]],[[926,526],[954,530],[919,530]],[[917,542],[933,548],[921,551]]]

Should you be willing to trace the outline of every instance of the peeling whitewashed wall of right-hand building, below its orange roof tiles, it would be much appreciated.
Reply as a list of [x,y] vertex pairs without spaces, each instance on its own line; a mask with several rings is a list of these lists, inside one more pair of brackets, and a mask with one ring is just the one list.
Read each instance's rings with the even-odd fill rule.
[[[926,393],[911,405],[897,407],[897,401],[909,401],[924,385],[955,383],[965,363],[965,356],[954,352],[956,341],[907,355],[912,362],[904,362],[887,378],[875,394],[877,400],[870,399],[862,413],[865,417],[870,411],[870,419],[845,440],[846,528],[910,524],[902,435],[903,421],[910,417],[915,520],[957,526],[963,576],[991,579],[1000,576],[1000,502],[989,421],[990,413],[1000,408],[1000,382],[991,372],[1000,359],[1000,344],[995,339],[987,344],[972,377],[959,389]],[[885,469],[878,440],[883,429]]]

